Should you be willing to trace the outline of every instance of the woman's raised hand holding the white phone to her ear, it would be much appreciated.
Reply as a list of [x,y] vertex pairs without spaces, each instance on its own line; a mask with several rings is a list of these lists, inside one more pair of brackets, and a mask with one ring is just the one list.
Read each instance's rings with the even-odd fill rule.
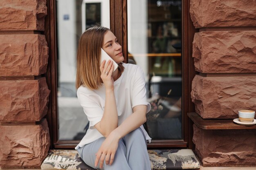
[[114,90],[114,79],[112,77],[113,70],[114,70],[114,64],[113,61],[108,60],[106,66],[104,67],[106,63],[106,60],[103,60],[100,66],[101,70],[101,79],[103,81],[103,84],[105,85],[106,90]]

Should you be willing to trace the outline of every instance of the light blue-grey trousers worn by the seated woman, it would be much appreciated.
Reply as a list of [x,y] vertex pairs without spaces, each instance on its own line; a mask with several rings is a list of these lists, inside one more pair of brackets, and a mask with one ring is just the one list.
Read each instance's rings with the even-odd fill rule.
[[[100,168],[99,163],[97,167],[94,166],[95,154],[105,139],[105,137],[101,137],[90,144],[78,148],[79,155],[83,161],[97,170],[100,170]],[[104,161],[101,170],[151,170],[146,137],[141,128],[133,130],[119,140],[113,163],[110,166],[109,164],[106,165]]]

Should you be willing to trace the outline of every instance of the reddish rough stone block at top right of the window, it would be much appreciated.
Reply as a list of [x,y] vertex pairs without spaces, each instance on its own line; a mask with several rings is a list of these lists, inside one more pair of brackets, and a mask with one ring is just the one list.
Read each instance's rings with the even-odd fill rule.
[[191,0],[190,15],[195,28],[256,26],[256,1]]

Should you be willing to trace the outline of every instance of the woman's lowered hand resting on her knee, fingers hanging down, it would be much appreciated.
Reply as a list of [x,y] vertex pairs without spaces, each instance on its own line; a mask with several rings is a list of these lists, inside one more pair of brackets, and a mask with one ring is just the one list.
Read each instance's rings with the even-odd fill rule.
[[[113,132],[113,131],[112,131]],[[101,144],[101,147],[99,148],[98,152],[95,154],[95,167],[97,167],[99,161],[100,161],[100,168],[103,167],[104,159],[106,157],[105,163],[108,165],[108,163],[111,165],[114,161],[115,153],[117,151],[118,143],[119,143],[119,137],[115,133],[110,133],[110,135],[103,141]]]

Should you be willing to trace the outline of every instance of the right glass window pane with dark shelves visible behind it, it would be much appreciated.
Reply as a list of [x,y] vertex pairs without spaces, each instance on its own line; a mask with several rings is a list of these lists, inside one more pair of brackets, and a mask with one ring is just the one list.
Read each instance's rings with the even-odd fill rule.
[[129,63],[141,66],[152,139],[182,139],[181,0],[128,0]]

